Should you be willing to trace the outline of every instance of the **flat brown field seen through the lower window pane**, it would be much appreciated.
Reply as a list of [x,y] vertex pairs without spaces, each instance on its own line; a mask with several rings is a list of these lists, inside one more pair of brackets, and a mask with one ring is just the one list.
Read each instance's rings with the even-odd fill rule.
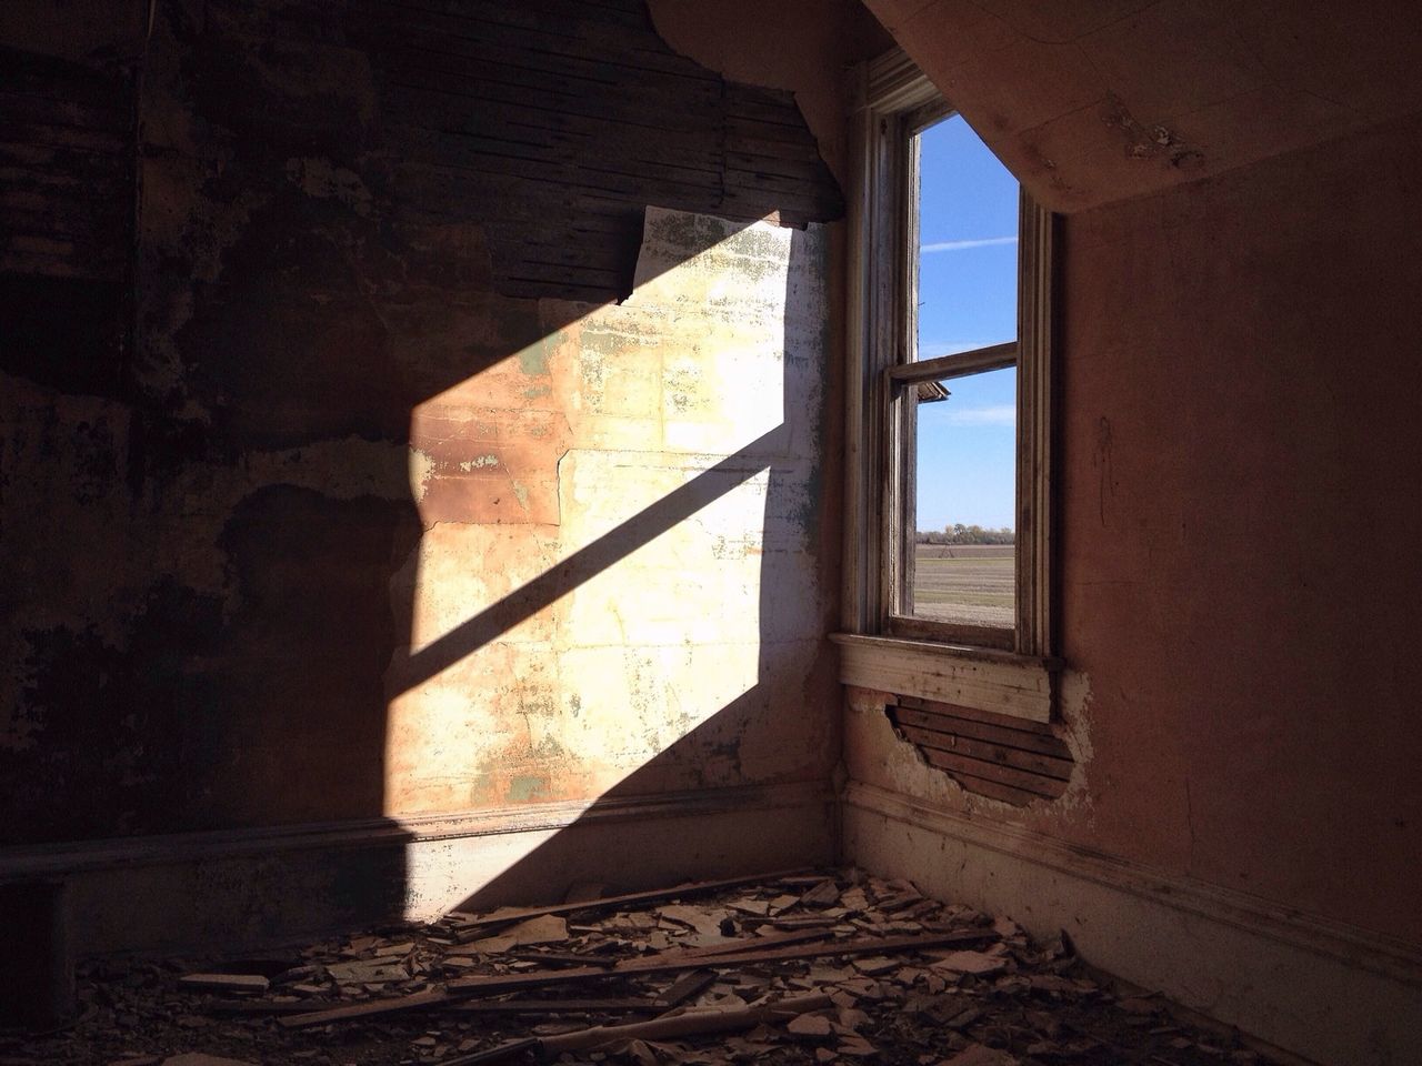
[[1012,625],[1014,551],[1011,544],[919,544],[914,615],[971,625]]

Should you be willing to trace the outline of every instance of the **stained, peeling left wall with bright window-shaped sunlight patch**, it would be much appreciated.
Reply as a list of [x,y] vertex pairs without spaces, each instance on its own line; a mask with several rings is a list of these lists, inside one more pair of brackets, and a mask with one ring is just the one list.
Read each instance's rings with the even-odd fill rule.
[[7,208],[73,213],[55,159],[119,185],[101,257],[0,263],[50,301],[0,341],[10,854],[357,826],[390,861],[284,894],[398,905],[392,831],[503,834],[441,844],[428,908],[525,891],[530,826],[779,787],[765,843],[594,850],[826,858],[843,203],[792,92],[630,1],[173,0],[78,54],[43,9],[6,23],[40,71]]

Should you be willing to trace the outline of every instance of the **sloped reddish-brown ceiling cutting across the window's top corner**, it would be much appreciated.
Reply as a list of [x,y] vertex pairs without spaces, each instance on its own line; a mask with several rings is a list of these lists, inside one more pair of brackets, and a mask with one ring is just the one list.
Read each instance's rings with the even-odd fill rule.
[[1059,212],[1422,109],[1415,0],[866,4]]

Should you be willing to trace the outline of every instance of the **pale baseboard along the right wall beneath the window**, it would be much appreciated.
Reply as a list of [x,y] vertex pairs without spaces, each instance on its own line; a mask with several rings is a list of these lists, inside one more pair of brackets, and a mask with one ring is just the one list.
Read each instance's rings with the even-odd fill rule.
[[1307,1060],[1422,1062],[1422,951],[865,782],[845,857],[923,891],[1066,930],[1084,958]]

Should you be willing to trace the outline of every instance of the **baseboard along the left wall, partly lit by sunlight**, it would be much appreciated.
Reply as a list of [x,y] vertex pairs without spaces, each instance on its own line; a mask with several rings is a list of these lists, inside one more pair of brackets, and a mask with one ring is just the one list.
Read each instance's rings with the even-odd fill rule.
[[833,803],[803,782],[7,847],[0,881],[65,881],[81,954],[233,951],[462,904],[550,903],[572,881],[650,888],[828,863]]

